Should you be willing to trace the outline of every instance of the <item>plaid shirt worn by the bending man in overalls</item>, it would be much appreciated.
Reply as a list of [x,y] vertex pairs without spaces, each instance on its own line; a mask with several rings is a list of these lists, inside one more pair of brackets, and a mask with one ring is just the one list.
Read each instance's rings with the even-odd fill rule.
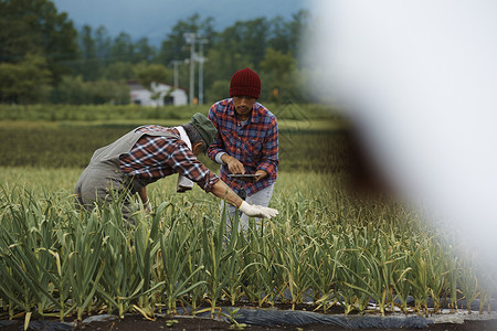
[[[147,136],[151,131],[170,132],[177,138]],[[119,158],[119,168],[124,173],[148,180],[179,173],[199,184],[205,192],[212,191],[212,185],[219,181],[218,175],[203,166],[187,143],[179,139],[177,129],[146,126],[136,129],[136,132],[144,132],[144,136],[128,153]]]

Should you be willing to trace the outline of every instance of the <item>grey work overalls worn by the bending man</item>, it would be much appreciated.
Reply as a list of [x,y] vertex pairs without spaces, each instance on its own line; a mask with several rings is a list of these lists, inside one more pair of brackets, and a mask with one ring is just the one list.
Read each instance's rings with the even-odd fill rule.
[[173,134],[163,131],[135,132],[136,130],[94,152],[88,167],[76,183],[74,190],[76,205],[92,211],[95,204],[110,204],[118,199],[123,203],[123,216],[127,220],[130,218],[135,211],[130,196],[158,179],[138,179],[126,175],[119,169],[119,156],[128,153],[142,136],[177,138]]

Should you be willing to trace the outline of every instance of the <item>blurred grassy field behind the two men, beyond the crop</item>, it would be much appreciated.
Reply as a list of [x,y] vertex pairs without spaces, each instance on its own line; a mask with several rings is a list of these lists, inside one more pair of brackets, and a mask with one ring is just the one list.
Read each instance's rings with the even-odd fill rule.
[[[322,106],[274,106],[282,171],[347,168],[347,125]],[[84,168],[93,152],[146,124],[177,126],[208,107],[0,106],[0,167]],[[210,168],[218,164],[201,157]]]

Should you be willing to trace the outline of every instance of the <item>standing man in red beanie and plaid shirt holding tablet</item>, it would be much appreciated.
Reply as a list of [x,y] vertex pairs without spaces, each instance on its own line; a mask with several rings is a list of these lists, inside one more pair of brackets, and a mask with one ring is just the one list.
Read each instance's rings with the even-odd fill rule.
[[[221,179],[234,192],[245,196],[248,203],[267,206],[279,163],[278,126],[276,117],[256,102],[260,95],[261,78],[255,72],[244,68],[233,74],[231,98],[215,103],[209,110],[218,136],[208,156],[221,164]],[[253,177],[242,178],[242,174]],[[229,205],[229,211],[233,218],[235,209]],[[240,228],[248,228],[245,214],[241,215]]]

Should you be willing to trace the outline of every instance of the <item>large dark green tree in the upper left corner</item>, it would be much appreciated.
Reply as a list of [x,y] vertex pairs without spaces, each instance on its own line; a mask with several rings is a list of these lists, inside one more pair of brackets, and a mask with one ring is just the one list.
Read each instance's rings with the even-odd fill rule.
[[77,31],[66,13],[49,0],[0,0],[0,62],[18,63],[27,54],[46,58],[57,81],[77,56]]

